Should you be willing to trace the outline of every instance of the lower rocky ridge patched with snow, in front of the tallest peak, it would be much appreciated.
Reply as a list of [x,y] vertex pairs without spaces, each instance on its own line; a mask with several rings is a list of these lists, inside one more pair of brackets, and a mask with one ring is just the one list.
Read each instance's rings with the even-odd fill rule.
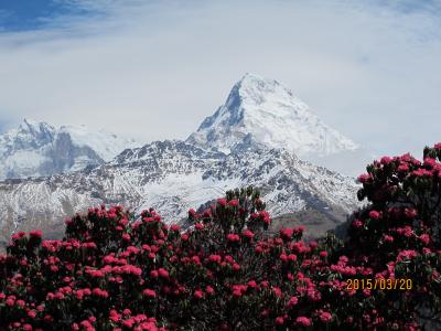
[[183,141],[127,149],[94,169],[0,183],[0,233],[40,227],[49,235],[64,217],[100,203],[139,212],[153,206],[166,222],[185,217],[225,190],[261,189],[272,215],[312,209],[344,214],[357,205],[355,181],[247,139],[228,154]]

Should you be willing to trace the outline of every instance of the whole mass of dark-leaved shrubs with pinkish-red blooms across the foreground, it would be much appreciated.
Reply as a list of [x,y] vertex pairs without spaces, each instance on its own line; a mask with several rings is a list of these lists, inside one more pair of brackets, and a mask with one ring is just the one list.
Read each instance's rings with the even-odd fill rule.
[[[14,234],[0,256],[0,329],[416,330],[440,312],[438,164],[369,166],[359,197],[370,204],[344,244],[303,242],[303,227],[269,234],[252,189],[190,210],[185,231],[152,209],[101,206],[67,220],[62,241]],[[355,278],[413,289],[347,290]]]

